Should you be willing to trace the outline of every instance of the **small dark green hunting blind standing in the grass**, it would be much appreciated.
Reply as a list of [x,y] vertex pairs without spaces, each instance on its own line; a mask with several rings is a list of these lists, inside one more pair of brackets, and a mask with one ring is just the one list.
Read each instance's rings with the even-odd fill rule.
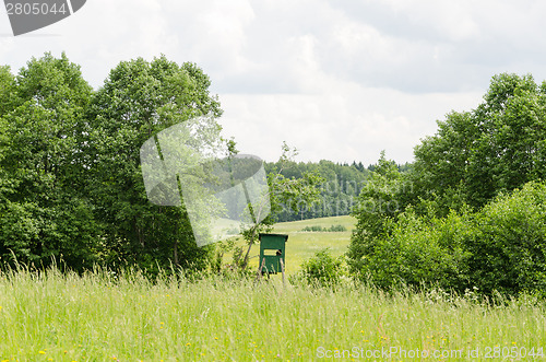
[[286,241],[284,234],[260,234],[260,262],[261,273],[276,275],[283,272],[286,266]]

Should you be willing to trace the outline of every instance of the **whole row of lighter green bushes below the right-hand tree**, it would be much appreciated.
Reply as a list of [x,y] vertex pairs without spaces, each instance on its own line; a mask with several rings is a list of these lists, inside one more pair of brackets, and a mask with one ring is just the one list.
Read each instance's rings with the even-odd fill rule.
[[477,212],[463,208],[446,218],[418,217],[408,208],[390,233],[359,245],[361,256],[349,259],[352,271],[380,288],[426,284],[460,293],[544,295],[546,184],[526,184]]

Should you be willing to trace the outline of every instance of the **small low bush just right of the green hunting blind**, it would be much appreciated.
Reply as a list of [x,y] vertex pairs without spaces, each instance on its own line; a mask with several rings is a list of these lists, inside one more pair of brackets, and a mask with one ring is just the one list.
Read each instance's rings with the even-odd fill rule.
[[334,258],[328,248],[317,252],[301,264],[301,270],[292,278],[293,282],[304,280],[309,285],[333,287],[343,276],[343,259]]

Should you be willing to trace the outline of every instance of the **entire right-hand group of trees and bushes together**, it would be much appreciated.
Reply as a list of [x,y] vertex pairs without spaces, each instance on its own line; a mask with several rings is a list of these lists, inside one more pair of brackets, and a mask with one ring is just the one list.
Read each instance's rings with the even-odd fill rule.
[[401,173],[381,156],[359,195],[348,264],[381,288],[545,295],[546,82],[492,78]]

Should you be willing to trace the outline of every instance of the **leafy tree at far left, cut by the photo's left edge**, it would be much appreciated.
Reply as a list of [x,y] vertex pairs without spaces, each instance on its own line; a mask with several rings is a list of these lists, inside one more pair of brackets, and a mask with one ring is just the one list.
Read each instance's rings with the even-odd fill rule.
[[79,144],[92,89],[64,54],[33,58],[16,78],[2,68],[0,82],[9,92],[0,101],[0,257],[91,267],[97,230]]

